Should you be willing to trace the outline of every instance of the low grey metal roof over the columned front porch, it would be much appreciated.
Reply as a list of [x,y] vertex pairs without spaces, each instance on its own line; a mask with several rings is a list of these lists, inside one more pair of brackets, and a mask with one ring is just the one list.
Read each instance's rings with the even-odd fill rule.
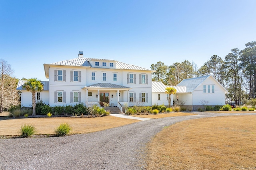
[[126,87],[126,86],[120,86],[117,84],[111,84],[111,83],[97,83],[97,84],[92,84],[90,86],[84,86],[82,88],[83,90],[90,89],[90,90],[130,90],[132,88]]

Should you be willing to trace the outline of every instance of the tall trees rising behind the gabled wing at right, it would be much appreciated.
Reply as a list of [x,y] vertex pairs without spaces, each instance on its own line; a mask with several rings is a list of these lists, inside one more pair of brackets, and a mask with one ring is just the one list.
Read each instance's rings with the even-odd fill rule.
[[234,101],[236,105],[256,98],[256,41],[246,43],[243,50],[231,49],[224,60],[213,55],[199,69],[196,63],[187,60],[171,66],[159,61],[150,68],[156,70],[152,81],[173,86],[186,78],[211,74],[228,90],[226,101]]

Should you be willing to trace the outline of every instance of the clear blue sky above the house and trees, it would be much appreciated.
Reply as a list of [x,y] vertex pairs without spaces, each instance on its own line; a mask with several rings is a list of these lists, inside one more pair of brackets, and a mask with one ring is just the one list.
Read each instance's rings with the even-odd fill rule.
[[150,69],[194,61],[256,41],[255,0],[0,0],[0,59],[16,78],[78,56]]

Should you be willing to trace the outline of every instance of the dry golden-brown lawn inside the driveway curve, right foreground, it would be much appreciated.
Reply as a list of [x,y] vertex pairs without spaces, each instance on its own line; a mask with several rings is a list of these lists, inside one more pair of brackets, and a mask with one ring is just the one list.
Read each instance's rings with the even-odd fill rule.
[[148,170],[256,169],[256,115],[193,119],[148,144]]

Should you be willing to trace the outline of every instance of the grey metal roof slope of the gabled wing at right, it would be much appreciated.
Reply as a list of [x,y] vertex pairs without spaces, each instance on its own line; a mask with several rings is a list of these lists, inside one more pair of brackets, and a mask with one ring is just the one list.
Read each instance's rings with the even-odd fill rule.
[[200,84],[202,84],[211,75],[200,76],[195,78],[187,78],[182,80],[177,86],[186,86],[186,92],[193,92]]

